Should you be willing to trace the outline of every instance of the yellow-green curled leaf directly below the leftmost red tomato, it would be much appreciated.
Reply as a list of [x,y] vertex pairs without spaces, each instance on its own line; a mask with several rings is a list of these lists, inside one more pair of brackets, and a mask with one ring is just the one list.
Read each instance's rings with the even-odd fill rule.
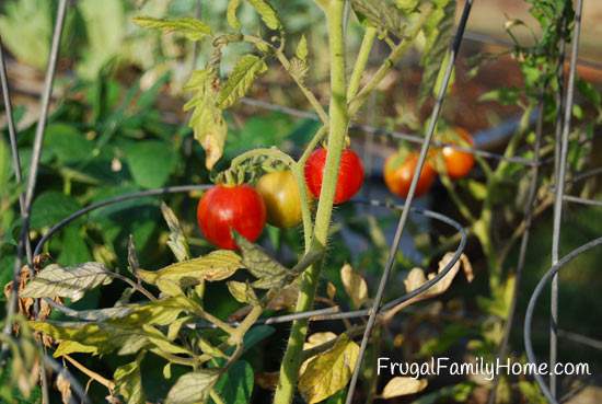
[[138,272],[147,284],[157,285],[160,280],[171,280],[181,287],[198,285],[201,280],[223,280],[243,268],[241,257],[228,250],[213,251],[200,258],[184,261],[159,270]]

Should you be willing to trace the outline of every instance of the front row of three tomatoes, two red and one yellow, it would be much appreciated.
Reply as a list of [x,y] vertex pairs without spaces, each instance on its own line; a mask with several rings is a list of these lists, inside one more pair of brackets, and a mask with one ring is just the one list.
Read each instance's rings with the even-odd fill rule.
[[[326,149],[315,150],[304,166],[304,176],[311,196],[317,198],[322,189]],[[334,204],[349,200],[363,183],[360,158],[345,149],[340,158]],[[224,185],[209,189],[199,200],[197,220],[200,231],[212,244],[228,250],[236,249],[232,231],[251,242],[259,238],[266,221],[278,228],[301,223],[301,193],[290,170],[268,172],[256,183]]]

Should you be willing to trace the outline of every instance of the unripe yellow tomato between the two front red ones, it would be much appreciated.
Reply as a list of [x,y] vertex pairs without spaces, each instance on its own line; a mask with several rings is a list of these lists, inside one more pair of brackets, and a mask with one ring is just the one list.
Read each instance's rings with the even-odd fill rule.
[[256,184],[264,198],[268,223],[292,228],[301,223],[301,194],[290,170],[264,174]]

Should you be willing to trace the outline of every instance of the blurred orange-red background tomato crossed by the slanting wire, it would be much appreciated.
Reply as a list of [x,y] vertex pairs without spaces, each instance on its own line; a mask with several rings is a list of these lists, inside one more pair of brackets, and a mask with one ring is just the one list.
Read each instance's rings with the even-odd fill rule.
[[[406,198],[417,164],[418,153],[407,153],[405,157],[395,153],[389,157],[384,162],[384,183],[389,191],[402,198]],[[421,196],[426,194],[430,189],[436,177],[437,171],[435,171],[435,168],[428,160],[425,161],[414,195]]]

